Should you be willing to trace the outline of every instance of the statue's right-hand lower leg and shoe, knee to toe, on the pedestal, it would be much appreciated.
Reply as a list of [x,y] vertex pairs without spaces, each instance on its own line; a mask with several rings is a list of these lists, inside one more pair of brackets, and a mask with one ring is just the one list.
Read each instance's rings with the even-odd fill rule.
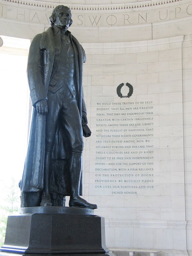
[[71,186],[69,206],[97,209],[96,204],[90,204],[79,196],[79,186],[82,172],[82,155],[72,155],[69,161],[69,176]]

